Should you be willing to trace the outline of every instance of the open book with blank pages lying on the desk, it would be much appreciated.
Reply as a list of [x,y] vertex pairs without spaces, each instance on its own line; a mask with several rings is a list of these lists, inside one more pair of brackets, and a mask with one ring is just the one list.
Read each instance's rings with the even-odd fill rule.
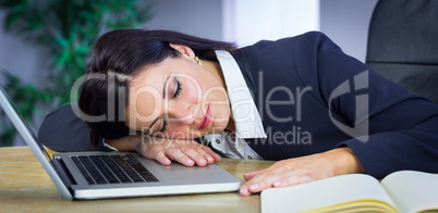
[[261,212],[438,212],[438,175],[350,174],[261,192]]

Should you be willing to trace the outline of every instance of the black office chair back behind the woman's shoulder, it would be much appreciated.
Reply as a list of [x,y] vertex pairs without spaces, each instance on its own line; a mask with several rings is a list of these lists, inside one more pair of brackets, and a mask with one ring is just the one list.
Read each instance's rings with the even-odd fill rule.
[[379,0],[366,64],[438,103],[438,0]]

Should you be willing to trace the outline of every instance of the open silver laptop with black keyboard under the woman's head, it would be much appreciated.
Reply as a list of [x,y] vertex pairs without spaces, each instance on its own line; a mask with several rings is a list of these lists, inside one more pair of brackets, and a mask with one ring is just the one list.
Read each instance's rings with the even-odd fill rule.
[[241,180],[210,164],[186,167],[131,152],[47,153],[0,85],[0,106],[68,200],[236,191]]

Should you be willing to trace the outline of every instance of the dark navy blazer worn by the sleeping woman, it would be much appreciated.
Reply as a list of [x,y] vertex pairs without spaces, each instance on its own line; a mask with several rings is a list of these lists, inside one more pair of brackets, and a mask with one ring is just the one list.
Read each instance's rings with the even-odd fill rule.
[[[350,147],[366,173],[438,172],[438,106],[382,78],[312,32],[233,52],[260,114],[265,139],[245,139],[266,160]],[[64,106],[39,139],[59,151],[95,148],[86,125]],[[72,137],[74,136],[74,137]]]

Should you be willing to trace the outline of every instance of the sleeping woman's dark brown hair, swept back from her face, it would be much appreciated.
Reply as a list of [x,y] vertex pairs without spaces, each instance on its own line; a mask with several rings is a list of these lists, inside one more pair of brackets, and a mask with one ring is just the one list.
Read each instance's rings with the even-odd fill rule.
[[78,100],[83,114],[106,117],[99,122],[85,121],[94,146],[99,143],[99,138],[129,135],[124,122],[129,84],[142,68],[180,57],[169,43],[187,46],[199,59],[208,61],[217,61],[215,50],[234,50],[233,43],[170,30],[117,29],[102,35],[92,50]]

